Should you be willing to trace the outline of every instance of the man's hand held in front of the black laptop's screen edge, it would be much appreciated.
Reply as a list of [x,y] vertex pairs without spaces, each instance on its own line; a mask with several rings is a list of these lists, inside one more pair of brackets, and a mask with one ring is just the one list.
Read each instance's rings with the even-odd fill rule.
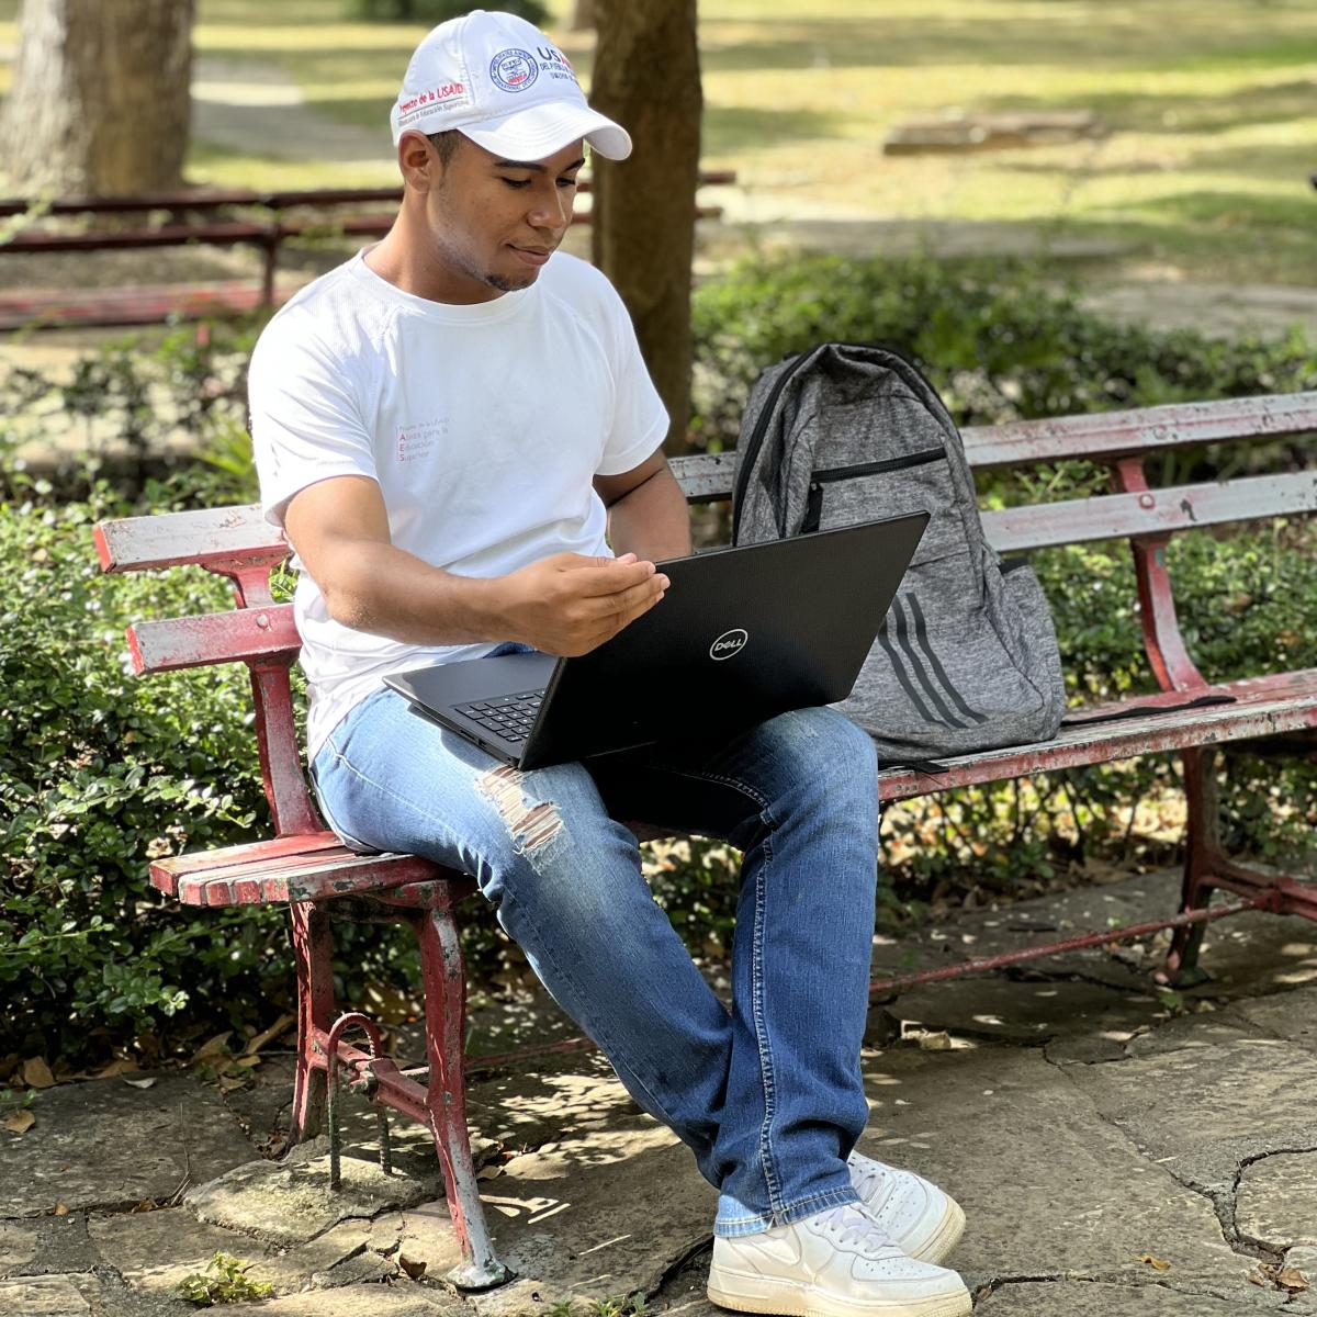
[[500,633],[544,653],[574,658],[648,612],[668,578],[633,553],[587,558],[556,553],[499,582]]

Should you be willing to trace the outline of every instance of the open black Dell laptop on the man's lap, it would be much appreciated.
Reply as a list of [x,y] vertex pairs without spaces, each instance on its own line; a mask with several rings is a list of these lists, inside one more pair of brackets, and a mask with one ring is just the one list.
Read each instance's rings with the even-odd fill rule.
[[851,694],[927,512],[660,562],[664,598],[576,658],[499,655],[394,673],[412,710],[544,768],[732,734]]

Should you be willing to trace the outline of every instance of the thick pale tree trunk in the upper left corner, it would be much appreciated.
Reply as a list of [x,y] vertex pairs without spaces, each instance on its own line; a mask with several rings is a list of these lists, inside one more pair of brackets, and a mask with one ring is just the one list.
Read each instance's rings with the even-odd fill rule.
[[194,0],[24,0],[0,115],[11,192],[174,188],[191,122]]

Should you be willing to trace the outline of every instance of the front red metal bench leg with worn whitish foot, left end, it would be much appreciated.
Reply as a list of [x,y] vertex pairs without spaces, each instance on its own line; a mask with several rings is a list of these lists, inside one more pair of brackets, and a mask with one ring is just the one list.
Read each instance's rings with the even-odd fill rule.
[[466,967],[450,905],[424,911],[415,927],[425,981],[425,1106],[464,1258],[448,1279],[462,1289],[489,1289],[511,1280],[512,1272],[494,1255],[466,1127]]

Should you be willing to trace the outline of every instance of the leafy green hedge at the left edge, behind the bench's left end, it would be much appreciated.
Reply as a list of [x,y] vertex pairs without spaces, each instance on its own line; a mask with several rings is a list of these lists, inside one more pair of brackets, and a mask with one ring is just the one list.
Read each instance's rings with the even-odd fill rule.
[[125,668],[129,622],[224,589],[101,577],[103,511],[0,504],[0,1051],[95,1054],[186,1002],[238,1022],[286,980],[277,911],[183,915],[145,882],[148,856],[249,836],[263,810],[240,674]]

